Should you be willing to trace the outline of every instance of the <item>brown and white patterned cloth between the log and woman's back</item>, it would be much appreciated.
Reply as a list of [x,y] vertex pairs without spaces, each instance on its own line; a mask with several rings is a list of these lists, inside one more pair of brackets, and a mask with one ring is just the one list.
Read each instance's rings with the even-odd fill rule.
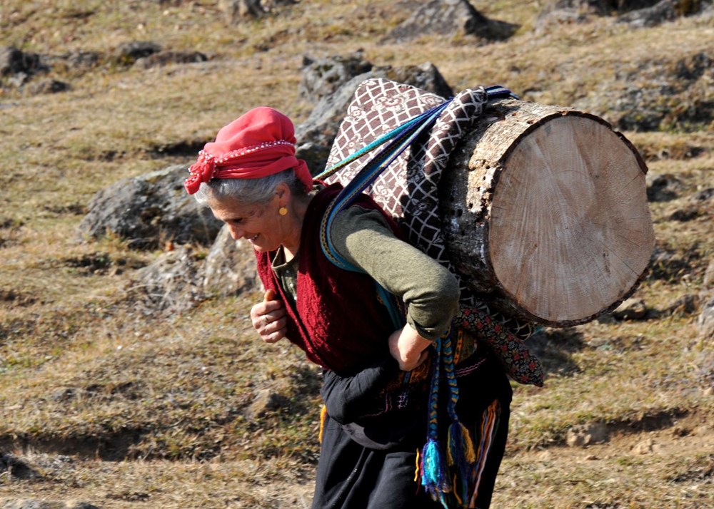
[[[326,168],[340,163],[406,120],[444,101],[441,96],[383,78],[363,81],[347,108]],[[405,150],[365,192],[397,220],[413,245],[448,267],[458,278],[461,315],[455,323],[459,327],[468,324],[467,329],[489,341],[496,354],[506,351],[510,358],[501,360],[514,379],[540,385],[543,381],[540,363],[528,354],[522,341],[532,334],[533,325],[489,309],[483,298],[466,287],[448,259],[441,230],[438,207],[441,173],[446,168],[451,151],[478,120],[487,102],[488,94],[483,87],[458,93],[431,130]],[[326,181],[347,185],[378,152],[375,150],[349,163]],[[503,341],[508,344],[503,344]],[[524,359],[527,359],[525,364]]]

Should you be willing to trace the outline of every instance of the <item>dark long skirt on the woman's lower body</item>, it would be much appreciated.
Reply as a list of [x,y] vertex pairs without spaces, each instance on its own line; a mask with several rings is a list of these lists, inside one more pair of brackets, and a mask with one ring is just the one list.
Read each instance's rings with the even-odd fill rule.
[[[478,460],[469,480],[469,500],[457,503],[450,494],[448,507],[486,509],[506,448],[511,384],[497,361],[489,358],[473,371],[462,373],[458,386],[457,413],[472,431]],[[415,480],[417,451],[426,441],[426,417],[420,427],[423,431],[418,436],[410,436],[398,446],[373,450],[353,441],[340,423],[327,416],[312,508],[442,508],[424,492],[421,480]]]

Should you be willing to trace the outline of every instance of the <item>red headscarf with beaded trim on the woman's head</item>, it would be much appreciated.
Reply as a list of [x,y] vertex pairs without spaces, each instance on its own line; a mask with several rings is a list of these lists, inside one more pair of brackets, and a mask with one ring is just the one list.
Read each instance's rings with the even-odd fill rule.
[[213,178],[262,178],[293,168],[307,189],[312,176],[304,160],[295,157],[295,128],[278,110],[261,106],[241,115],[206,143],[191,175],[183,182],[189,195]]

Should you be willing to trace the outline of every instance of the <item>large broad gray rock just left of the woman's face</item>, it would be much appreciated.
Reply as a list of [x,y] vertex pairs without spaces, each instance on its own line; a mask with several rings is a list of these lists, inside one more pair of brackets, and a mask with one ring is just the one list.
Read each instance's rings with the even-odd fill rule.
[[115,182],[94,195],[79,225],[82,238],[107,233],[128,239],[131,247],[155,248],[213,242],[222,223],[183,189],[186,165]]

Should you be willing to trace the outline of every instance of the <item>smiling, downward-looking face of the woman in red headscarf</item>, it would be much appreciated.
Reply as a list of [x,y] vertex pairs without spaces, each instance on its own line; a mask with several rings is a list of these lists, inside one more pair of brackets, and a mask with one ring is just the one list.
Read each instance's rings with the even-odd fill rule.
[[209,205],[213,215],[231,229],[233,239],[248,240],[258,252],[275,251],[287,238],[277,195],[263,205],[237,200],[211,200]]

